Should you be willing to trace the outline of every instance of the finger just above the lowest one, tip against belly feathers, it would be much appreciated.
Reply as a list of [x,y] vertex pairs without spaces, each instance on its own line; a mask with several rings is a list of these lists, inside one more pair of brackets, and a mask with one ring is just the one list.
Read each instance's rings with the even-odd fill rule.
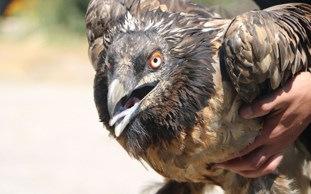
[[259,147],[242,159],[235,158],[228,162],[217,164],[218,168],[229,169],[231,171],[257,170],[270,157],[266,146]]

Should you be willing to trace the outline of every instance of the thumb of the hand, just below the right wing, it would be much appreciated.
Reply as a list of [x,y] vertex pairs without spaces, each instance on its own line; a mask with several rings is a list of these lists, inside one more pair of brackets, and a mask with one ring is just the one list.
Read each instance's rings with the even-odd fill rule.
[[270,92],[263,98],[258,98],[253,102],[242,106],[239,114],[246,119],[255,118],[258,116],[267,115],[272,109],[282,103],[280,89]]

